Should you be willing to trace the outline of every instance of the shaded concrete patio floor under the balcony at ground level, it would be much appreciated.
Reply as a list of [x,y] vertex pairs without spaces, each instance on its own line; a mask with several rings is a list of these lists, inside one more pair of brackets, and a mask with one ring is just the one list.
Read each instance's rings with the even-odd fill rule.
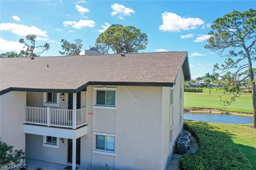
[[[27,169],[35,170],[41,168],[42,170],[64,170],[68,165],[55,164],[52,162],[39,161],[35,159],[26,158]],[[77,170],[87,170],[84,168],[78,168]]]

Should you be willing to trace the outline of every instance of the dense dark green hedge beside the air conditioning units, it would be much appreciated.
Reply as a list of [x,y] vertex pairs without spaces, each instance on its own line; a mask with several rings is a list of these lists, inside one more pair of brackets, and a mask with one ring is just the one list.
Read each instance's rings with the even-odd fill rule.
[[184,129],[196,137],[199,148],[197,152],[184,154],[180,158],[181,170],[253,169],[223,129],[191,121],[184,121]]

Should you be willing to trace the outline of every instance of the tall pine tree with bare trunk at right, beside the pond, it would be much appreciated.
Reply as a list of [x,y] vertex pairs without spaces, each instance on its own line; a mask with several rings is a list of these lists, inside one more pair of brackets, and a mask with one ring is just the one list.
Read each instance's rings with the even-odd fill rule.
[[[239,12],[234,10],[223,17],[216,19],[209,32],[211,36],[205,48],[225,57],[224,64],[215,64],[214,71],[226,73],[230,69],[235,69],[230,76],[231,86],[236,88],[236,84],[249,78],[251,87],[244,88],[252,90],[253,101],[253,127],[256,128],[256,89],[255,74],[252,68],[252,61],[256,61],[256,10]],[[245,70],[249,74],[244,75]],[[229,72],[230,73],[230,72]],[[239,91],[229,92],[228,100],[223,101],[224,105],[230,105],[236,97],[241,95]]]

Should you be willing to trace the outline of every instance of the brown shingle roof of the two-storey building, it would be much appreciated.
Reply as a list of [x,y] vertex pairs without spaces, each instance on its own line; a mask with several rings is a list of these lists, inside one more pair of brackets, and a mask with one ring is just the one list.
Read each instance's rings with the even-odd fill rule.
[[90,82],[173,83],[186,56],[187,51],[1,58],[0,90],[74,90]]

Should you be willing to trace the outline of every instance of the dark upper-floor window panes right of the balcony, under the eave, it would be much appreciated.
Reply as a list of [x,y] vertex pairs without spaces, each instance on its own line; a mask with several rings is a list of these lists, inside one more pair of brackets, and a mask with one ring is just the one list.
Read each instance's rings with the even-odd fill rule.
[[115,106],[116,91],[97,90],[97,105]]

